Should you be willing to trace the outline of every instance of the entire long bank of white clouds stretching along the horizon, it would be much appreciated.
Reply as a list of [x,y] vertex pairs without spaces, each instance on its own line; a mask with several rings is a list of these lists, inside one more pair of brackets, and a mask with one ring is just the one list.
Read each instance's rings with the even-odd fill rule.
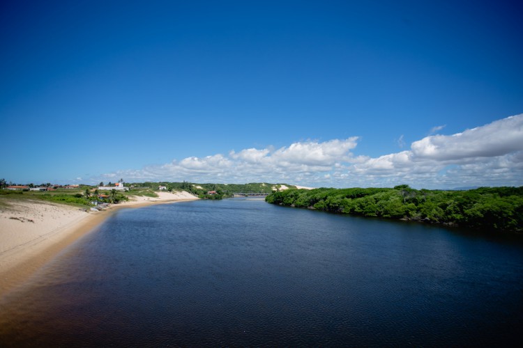
[[[437,132],[444,126],[431,129]],[[285,182],[311,187],[426,189],[523,185],[523,113],[452,135],[434,134],[410,150],[372,158],[354,155],[361,139],[300,141],[282,148],[248,148],[227,155],[187,157],[160,166],[116,171],[100,180],[127,182]],[[98,178],[96,178],[98,179]]]

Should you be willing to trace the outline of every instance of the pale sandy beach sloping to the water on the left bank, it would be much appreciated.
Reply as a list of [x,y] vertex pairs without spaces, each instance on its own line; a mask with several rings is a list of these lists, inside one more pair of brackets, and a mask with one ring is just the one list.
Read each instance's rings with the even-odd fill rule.
[[185,191],[131,198],[100,212],[36,200],[4,202],[0,209],[0,297],[119,209],[198,199]]

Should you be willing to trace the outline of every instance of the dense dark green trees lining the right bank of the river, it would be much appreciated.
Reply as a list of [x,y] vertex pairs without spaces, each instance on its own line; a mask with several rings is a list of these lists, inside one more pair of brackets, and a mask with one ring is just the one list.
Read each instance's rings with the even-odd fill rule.
[[480,187],[468,191],[411,189],[289,189],[268,203],[325,212],[444,223],[451,226],[523,230],[523,187]]

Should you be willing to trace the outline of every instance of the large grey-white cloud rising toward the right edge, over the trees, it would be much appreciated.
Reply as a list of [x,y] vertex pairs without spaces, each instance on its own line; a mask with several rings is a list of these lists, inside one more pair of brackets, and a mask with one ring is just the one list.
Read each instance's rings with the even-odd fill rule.
[[450,136],[427,136],[411,150],[355,164],[354,172],[434,188],[521,185],[522,152],[523,114]]

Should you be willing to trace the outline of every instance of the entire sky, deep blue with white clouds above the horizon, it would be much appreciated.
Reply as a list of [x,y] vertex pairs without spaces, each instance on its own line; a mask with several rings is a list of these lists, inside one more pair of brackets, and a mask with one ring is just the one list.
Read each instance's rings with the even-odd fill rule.
[[3,1],[0,177],[520,186],[522,15],[517,1]]

